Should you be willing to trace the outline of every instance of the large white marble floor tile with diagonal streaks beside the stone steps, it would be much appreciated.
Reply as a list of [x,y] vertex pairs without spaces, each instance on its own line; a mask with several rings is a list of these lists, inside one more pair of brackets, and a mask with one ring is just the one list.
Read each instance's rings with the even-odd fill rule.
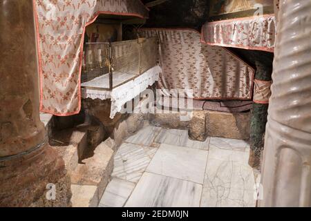
[[112,177],[138,182],[158,148],[124,143],[115,154]]

